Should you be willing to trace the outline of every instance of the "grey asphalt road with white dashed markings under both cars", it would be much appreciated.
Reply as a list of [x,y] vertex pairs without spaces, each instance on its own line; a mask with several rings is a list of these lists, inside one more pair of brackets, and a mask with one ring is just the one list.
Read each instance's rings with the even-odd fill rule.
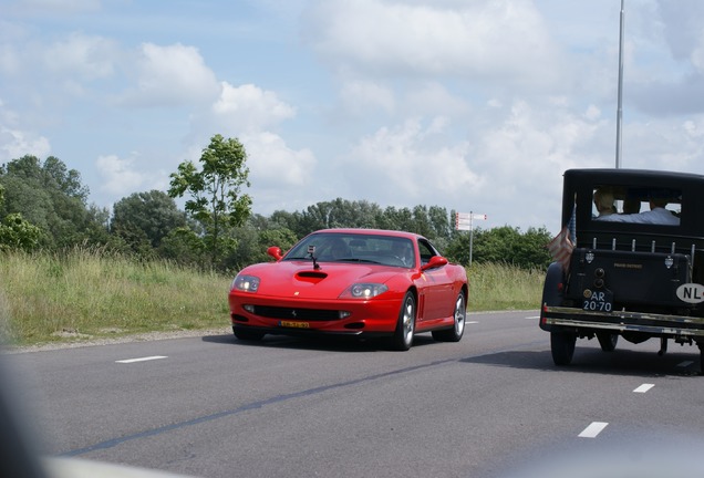
[[704,476],[696,347],[578,341],[557,368],[537,311],[467,320],[408,352],[224,332],[2,358],[48,455],[214,478]]

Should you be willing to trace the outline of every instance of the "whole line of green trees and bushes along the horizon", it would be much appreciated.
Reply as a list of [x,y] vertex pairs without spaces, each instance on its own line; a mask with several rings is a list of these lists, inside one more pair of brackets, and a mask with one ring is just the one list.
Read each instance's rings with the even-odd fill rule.
[[[269,246],[287,250],[323,228],[407,230],[428,238],[451,260],[468,264],[469,232],[455,230],[455,211],[438,206],[385,207],[337,198],[301,211],[252,214],[247,155],[239,141],[215,135],[199,165],[184,162],[172,174],[168,191],[135,193],[112,211],[87,204],[81,175],[54,156],[27,155],[0,166],[0,251],[62,252],[75,247],[165,259],[180,264],[236,271],[270,260]],[[185,210],[176,198],[186,197]],[[475,229],[472,262],[546,268],[550,235],[510,226]]]

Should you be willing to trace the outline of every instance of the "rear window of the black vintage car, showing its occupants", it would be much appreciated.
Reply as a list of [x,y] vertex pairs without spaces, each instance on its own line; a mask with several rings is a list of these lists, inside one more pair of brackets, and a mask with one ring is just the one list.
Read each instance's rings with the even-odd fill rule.
[[597,221],[679,226],[682,190],[663,187],[601,185],[593,189],[591,217]]

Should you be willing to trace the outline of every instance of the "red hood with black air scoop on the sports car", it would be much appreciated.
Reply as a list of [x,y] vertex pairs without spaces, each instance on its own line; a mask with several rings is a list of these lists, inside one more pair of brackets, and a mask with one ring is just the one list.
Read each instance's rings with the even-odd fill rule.
[[320,269],[314,270],[310,261],[279,261],[249,266],[242,273],[260,279],[258,295],[337,299],[353,283],[385,283],[393,277],[408,274],[408,270],[342,262],[321,262]]

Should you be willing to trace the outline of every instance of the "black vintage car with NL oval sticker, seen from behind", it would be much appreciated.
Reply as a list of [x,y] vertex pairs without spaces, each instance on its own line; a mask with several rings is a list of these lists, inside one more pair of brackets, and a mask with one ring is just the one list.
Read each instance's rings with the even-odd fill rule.
[[704,371],[704,176],[636,169],[569,169],[558,260],[547,271],[540,328],[556,365],[577,339],[613,351],[661,340],[696,344]]

